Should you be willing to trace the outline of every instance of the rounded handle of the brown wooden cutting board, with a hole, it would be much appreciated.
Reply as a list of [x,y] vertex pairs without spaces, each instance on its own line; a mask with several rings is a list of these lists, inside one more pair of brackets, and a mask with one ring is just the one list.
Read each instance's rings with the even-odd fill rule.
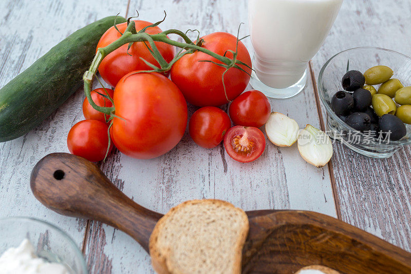
[[148,240],[161,214],[128,198],[88,160],[52,153],[34,167],[30,186],[47,208],[63,215],[88,218],[118,228],[148,252]]

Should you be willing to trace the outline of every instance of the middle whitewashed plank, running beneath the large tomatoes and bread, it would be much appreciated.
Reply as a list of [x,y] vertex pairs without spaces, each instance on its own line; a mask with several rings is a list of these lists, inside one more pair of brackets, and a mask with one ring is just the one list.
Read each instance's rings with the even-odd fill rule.
[[[141,20],[156,22],[167,18],[165,30],[197,28],[202,34],[227,31],[236,34],[241,22],[247,23],[247,1],[132,1],[128,15],[138,9]],[[248,25],[241,26],[241,35]],[[252,52],[249,39],[244,40]],[[271,100],[273,111],[288,114],[301,127],[319,127],[312,83],[293,99]],[[299,106],[296,108],[295,106]],[[195,111],[189,107],[189,115]],[[264,129],[263,129],[264,132]],[[233,161],[222,145],[206,150],[197,147],[188,134],[170,153],[153,160],[136,160],[119,154],[102,166],[109,178],[137,203],[167,212],[187,199],[219,198],[245,210],[306,209],[336,216],[328,168],[308,165],[292,148],[267,143],[258,160],[248,164]],[[129,236],[97,222],[90,222],[86,255],[92,273],[111,269],[113,273],[152,272],[150,257]]]

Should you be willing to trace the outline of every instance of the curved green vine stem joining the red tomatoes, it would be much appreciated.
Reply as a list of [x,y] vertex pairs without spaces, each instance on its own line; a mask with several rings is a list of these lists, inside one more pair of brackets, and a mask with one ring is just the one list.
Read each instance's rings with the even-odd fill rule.
[[[158,25],[158,24],[153,24],[154,25]],[[178,41],[174,41],[171,40],[170,38],[167,37],[167,34],[177,34],[179,36],[181,36],[181,38],[184,40],[185,43],[182,42],[178,42]],[[238,39],[238,38],[237,38]],[[185,50],[192,50],[194,51],[201,51],[204,52],[208,55],[210,55],[211,57],[214,57],[215,59],[217,59],[218,61],[220,61],[221,63],[225,64],[222,66],[225,66],[228,68],[230,67],[235,67],[235,68],[239,68],[242,70],[242,68],[240,68],[238,65],[244,65],[244,63],[237,61],[235,58],[230,59],[226,56],[220,56],[219,54],[203,48],[197,44],[194,44],[190,38],[182,31],[180,30],[176,30],[176,29],[170,29],[170,30],[166,30],[157,34],[148,34],[144,31],[139,31],[136,32],[136,26],[134,21],[130,21],[126,30],[124,31],[124,33],[121,35],[121,37],[119,39],[117,39],[116,41],[114,41],[113,43],[109,44],[106,47],[103,48],[99,48],[97,50],[96,56],[94,57],[93,61],[91,62],[90,68],[85,72],[84,76],[83,76],[83,81],[84,81],[84,93],[86,94],[86,97],[88,99],[88,102],[90,103],[90,105],[95,108],[97,111],[102,112],[104,114],[107,115],[111,115],[114,113],[115,110],[115,106],[113,107],[104,107],[104,106],[98,106],[91,98],[91,84],[92,84],[92,80],[94,78],[94,76],[96,75],[96,72],[101,64],[101,61],[111,52],[113,52],[114,50],[118,49],[119,47],[125,45],[125,44],[129,44],[129,43],[134,43],[134,42],[148,42],[150,43],[150,45],[152,46],[153,50],[151,50],[151,53],[153,54],[153,56],[156,58],[156,60],[159,62],[160,67],[158,68],[158,71],[166,71],[169,70],[171,68],[171,65],[174,64],[179,58],[181,58],[182,56],[184,56],[184,54],[188,53],[188,52],[182,52],[181,54],[178,54],[172,62],[167,63],[164,61],[164,59],[162,58],[160,52],[158,51],[158,49],[156,48],[155,44],[153,42],[163,42],[165,44],[169,44],[172,46],[176,46],[179,47],[181,49],[185,49]],[[202,42],[199,41],[199,43],[201,44]],[[160,56],[158,56],[158,54],[160,54]],[[143,60],[144,61],[144,60]],[[165,63],[164,63],[165,62]],[[156,70],[153,70],[156,71]],[[246,72],[248,73],[248,72]]]

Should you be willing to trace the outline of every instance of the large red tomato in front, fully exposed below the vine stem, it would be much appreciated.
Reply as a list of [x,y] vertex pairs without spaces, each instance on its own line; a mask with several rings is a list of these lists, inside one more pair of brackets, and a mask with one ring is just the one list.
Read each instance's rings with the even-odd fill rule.
[[158,73],[130,73],[114,90],[111,137],[124,154],[151,159],[170,151],[187,125],[187,104],[178,87]]

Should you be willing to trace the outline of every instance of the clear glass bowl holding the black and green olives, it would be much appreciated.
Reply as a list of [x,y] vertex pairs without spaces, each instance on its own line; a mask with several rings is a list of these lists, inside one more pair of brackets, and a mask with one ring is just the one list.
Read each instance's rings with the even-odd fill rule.
[[[331,98],[343,90],[341,78],[348,70],[364,72],[370,67],[385,65],[394,70],[394,76],[404,86],[411,85],[411,58],[399,52],[376,47],[358,47],[344,50],[331,57],[321,68],[317,86],[327,112],[327,134],[351,150],[372,158],[388,158],[404,145],[411,144],[411,125],[406,124],[407,134],[401,140],[389,141],[370,138],[354,130],[331,109]],[[374,85],[378,89],[378,85]]]

